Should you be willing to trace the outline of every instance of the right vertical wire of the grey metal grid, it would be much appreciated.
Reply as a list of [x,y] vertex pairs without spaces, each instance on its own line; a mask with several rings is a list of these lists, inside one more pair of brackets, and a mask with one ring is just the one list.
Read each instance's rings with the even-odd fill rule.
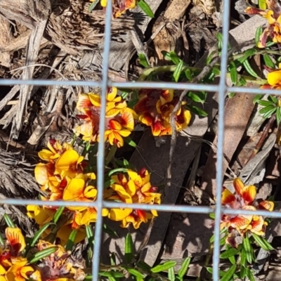
[[216,162],[216,212],[214,227],[213,280],[219,280],[220,226],[221,226],[221,192],[223,185],[223,134],[226,72],[228,67],[228,31],[230,18],[230,0],[223,1],[223,47],[221,50],[221,78],[218,86],[218,152]]

